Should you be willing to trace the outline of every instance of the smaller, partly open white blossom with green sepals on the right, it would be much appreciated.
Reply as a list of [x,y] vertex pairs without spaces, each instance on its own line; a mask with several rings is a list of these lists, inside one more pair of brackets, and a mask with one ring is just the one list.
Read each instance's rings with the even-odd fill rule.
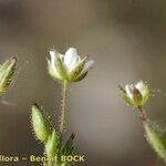
[[143,81],[120,89],[124,101],[134,107],[144,106],[151,96],[151,90]]

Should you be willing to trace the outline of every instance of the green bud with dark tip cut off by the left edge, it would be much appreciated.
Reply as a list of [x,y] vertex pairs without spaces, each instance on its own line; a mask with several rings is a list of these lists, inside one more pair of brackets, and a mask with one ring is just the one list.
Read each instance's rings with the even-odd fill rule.
[[0,94],[4,93],[11,84],[11,82],[13,81],[13,74],[15,72],[17,62],[17,56],[13,56],[7,60],[0,66]]

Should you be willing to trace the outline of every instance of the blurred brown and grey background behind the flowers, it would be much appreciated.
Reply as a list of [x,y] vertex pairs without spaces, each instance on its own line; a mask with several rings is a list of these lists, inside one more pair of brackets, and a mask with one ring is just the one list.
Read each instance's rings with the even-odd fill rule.
[[[59,120],[61,85],[48,75],[49,48],[75,46],[94,69],[69,89],[66,136],[76,134],[77,166],[163,166],[144,137],[118,84],[147,81],[155,95],[146,110],[166,122],[165,0],[0,0],[0,62],[19,55],[15,81],[0,103],[0,154],[42,155],[30,125],[33,101]],[[18,165],[40,165],[28,162]]]

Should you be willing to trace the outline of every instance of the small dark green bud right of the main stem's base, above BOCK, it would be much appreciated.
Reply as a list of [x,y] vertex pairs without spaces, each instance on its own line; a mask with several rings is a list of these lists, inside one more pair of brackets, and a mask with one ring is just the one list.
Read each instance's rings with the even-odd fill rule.
[[75,134],[72,134],[70,138],[66,141],[65,145],[62,148],[62,155],[69,156],[72,155],[74,152],[74,146],[73,146],[73,139],[75,137]]

